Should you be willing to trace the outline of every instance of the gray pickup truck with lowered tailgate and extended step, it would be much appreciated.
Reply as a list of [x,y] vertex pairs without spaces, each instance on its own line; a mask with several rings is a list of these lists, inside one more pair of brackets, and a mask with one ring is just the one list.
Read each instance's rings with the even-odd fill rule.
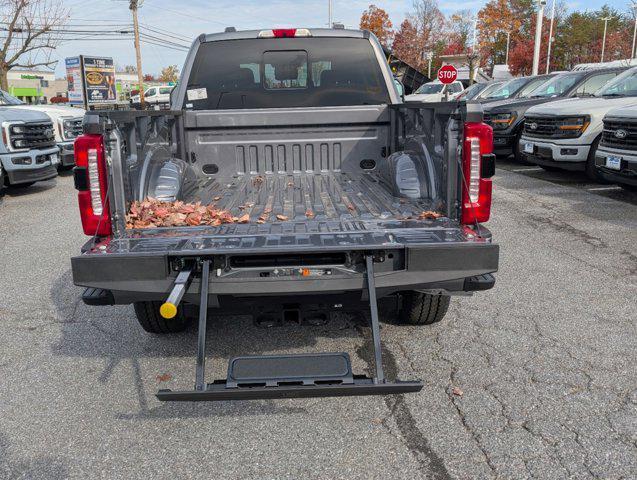
[[[89,305],[133,304],[148,332],[198,315],[195,388],[163,401],[419,391],[385,379],[378,302],[431,324],[450,296],[493,287],[492,151],[479,105],[403,103],[369,32],[201,35],[170,111],[85,117],[74,176],[92,238],[73,279]],[[263,325],[366,310],[375,374],[346,353],[249,356],[207,383],[214,309]]]

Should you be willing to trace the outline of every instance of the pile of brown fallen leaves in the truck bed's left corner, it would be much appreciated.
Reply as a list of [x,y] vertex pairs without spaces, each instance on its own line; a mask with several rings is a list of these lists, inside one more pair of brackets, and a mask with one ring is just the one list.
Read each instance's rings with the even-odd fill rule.
[[147,198],[143,202],[133,202],[126,215],[126,228],[158,227],[218,227],[223,223],[249,223],[250,214],[233,216],[228,210],[215,205],[197,203],[162,202]]

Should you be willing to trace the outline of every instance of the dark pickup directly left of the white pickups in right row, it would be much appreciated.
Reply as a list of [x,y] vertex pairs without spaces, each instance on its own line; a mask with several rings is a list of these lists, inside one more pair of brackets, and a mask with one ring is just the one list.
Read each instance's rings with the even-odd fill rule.
[[561,98],[591,96],[625,70],[612,68],[559,74],[520,98],[486,104],[485,122],[493,127],[496,155],[505,158],[515,155],[521,159],[520,138],[529,108]]

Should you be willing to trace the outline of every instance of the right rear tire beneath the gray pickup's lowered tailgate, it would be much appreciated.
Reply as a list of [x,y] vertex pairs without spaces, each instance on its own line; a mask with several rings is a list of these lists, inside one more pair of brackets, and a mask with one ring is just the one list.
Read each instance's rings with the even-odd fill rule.
[[404,292],[402,308],[398,299],[389,297],[379,302],[379,313],[385,323],[398,325],[433,325],[440,322],[449,309],[451,297],[428,293]]

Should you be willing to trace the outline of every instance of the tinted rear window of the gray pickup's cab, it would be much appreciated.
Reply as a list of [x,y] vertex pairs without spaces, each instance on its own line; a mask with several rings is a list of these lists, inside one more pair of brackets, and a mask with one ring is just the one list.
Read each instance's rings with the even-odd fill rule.
[[369,40],[356,38],[204,43],[187,88],[185,107],[194,110],[390,102]]

